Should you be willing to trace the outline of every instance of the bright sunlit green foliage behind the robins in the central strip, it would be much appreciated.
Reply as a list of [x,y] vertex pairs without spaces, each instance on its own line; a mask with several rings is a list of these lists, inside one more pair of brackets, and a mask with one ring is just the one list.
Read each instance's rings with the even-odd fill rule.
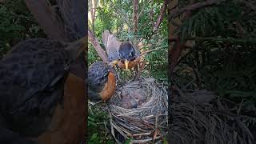
[[[134,33],[133,23],[133,2],[120,0],[104,0],[96,1],[98,4],[96,8],[96,16],[94,22],[94,34],[102,45],[103,30],[110,30],[116,34],[121,41],[130,41],[138,43],[140,41],[142,46],[140,50],[152,50],[157,47],[162,47],[161,50],[151,52],[146,55],[146,71],[158,80],[166,81],[167,79],[167,20],[165,18],[160,25],[157,32],[153,32],[153,24],[156,22],[162,1],[139,1],[138,5],[138,32]],[[89,6],[90,10],[91,6]],[[90,14],[89,14],[90,15]],[[152,17],[151,17],[152,16]],[[92,28],[90,22],[90,28]],[[100,58],[94,50],[93,46],[89,46],[89,65]],[[148,73],[146,73],[148,74]]]

